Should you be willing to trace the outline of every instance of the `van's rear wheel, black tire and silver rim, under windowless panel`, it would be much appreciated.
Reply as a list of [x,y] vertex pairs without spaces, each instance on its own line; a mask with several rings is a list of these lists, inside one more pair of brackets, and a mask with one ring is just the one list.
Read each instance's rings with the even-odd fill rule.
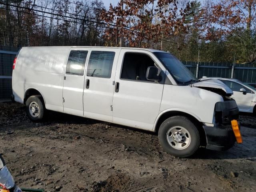
[[[30,114],[30,112],[32,113],[32,110],[31,110],[31,106],[33,104],[36,104],[38,106],[38,115],[37,113],[34,113],[35,115],[33,114]],[[30,106],[31,105],[31,106]],[[33,96],[30,96],[27,101],[26,101],[26,113],[28,115],[28,118],[31,120],[31,121],[41,121],[44,116],[45,116],[45,113],[46,113],[46,108],[44,106],[44,101],[43,101],[43,98],[42,96],[40,95],[33,95]]]

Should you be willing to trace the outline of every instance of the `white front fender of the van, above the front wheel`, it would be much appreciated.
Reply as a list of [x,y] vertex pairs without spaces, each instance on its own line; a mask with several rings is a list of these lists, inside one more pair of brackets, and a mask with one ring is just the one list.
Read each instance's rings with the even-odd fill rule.
[[160,112],[185,112],[201,122],[212,124],[214,107],[219,101],[223,101],[220,95],[201,88],[165,84]]

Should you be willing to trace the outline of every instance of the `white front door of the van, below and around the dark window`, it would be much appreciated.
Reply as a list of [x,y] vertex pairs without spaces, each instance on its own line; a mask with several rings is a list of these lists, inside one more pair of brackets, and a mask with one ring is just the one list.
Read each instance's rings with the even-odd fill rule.
[[160,82],[146,79],[147,68],[156,66],[156,60],[151,52],[122,49],[116,69],[114,122],[153,129],[160,110],[165,76],[165,71],[162,71]]

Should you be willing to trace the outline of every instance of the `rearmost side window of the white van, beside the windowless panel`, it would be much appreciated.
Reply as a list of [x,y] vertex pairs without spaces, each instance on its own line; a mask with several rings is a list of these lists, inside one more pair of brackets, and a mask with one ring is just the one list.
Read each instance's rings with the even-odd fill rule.
[[84,75],[84,65],[88,51],[72,50],[68,57],[66,74]]

